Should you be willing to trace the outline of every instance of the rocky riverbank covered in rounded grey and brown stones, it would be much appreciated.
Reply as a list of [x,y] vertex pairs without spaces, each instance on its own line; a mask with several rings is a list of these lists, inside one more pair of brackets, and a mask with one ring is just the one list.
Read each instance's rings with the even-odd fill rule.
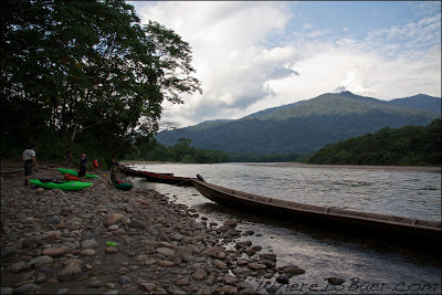
[[[304,273],[276,267],[276,254],[235,220],[217,224],[157,191],[116,190],[106,173],[80,191],[2,175],[1,294],[256,293],[252,280],[284,284]],[[48,166],[34,177],[62,175]]]

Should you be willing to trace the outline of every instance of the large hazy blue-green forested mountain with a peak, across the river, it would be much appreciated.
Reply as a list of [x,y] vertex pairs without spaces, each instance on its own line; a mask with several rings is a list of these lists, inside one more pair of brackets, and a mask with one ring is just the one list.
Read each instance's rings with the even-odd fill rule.
[[[440,101],[440,98],[438,98]],[[312,154],[327,144],[406,125],[424,126],[440,117],[417,108],[391,105],[349,92],[259,112],[241,119],[199,124],[157,135],[165,146],[178,138],[192,146],[235,155]]]

